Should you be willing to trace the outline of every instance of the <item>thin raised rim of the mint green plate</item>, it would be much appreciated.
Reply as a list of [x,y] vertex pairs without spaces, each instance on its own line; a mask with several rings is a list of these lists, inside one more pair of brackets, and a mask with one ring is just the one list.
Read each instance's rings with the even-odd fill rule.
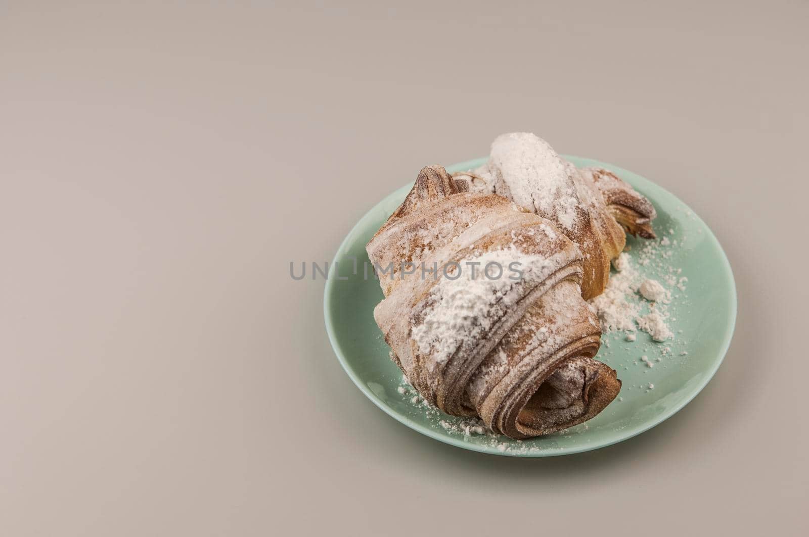
[[[460,447],[460,448],[462,448],[464,450],[477,451],[479,453],[486,453],[486,454],[489,454],[489,455],[505,455],[505,456],[511,456],[511,457],[526,457],[526,458],[553,457],[553,456],[559,456],[559,455],[574,455],[574,454],[577,454],[577,453],[583,453],[585,451],[597,450],[597,449],[600,449],[602,447],[612,446],[612,445],[614,445],[614,444],[616,444],[618,442],[624,442],[625,440],[629,440],[629,438],[634,438],[638,434],[645,433],[649,429],[652,429],[655,426],[660,425],[661,423],[663,423],[663,421],[666,421],[671,416],[674,416],[677,412],[680,412],[680,410],[685,408],[686,405],[688,405],[691,401],[693,401],[694,398],[697,397],[697,395],[699,395],[700,392],[705,388],[705,386],[708,385],[708,383],[711,381],[711,379],[714,378],[714,375],[719,370],[719,366],[722,366],[722,362],[724,362],[724,360],[725,360],[725,357],[727,355],[727,351],[731,347],[731,341],[733,340],[733,334],[734,334],[735,328],[736,328],[736,314],[737,314],[737,309],[738,309],[738,296],[737,296],[737,290],[736,290],[736,281],[735,281],[735,277],[733,275],[733,268],[731,267],[731,262],[730,262],[730,260],[727,259],[727,254],[725,253],[724,248],[722,248],[722,243],[719,243],[719,240],[716,238],[716,235],[714,235],[714,231],[710,229],[710,227],[705,223],[705,221],[702,220],[702,218],[696,212],[694,212],[694,210],[691,209],[691,207],[689,207],[688,204],[684,203],[684,201],[680,200],[679,197],[676,197],[673,193],[669,192],[666,188],[663,188],[659,184],[654,183],[654,181],[652,181],[652,180],[646,179],[646,177],[644,177],[643,175],[640,175],[640,174],[638,174],[638,173],[636,173],[634,171],[626,170],[625,168],[622,168],[620,166],[616,166],[616,165],[614,165],[612,163],[605,163],[603,161],[599,161],[599,160],[596,160],[596,159],[591,159],[591,158],[588,158],[588,157],[579,157],[578,155],[572,155],[572,154],[563,154],[561,156],[564,159],[569,159],[569,160],[575,159],[575,160],[579,160],[579,161],[587,161],[587,162],[591,163],[591,165],[597,165],[599,167],[604,167],[604,168],[607,168],[608,170],[615,171],[617,175],[621,175],[621,172],[626,172],[628,174],[631,174],[631,175],[633,175],[633,177],[637,177],[637,178],[639,178],[641,180],[640,182],[642,183],[642,188],[651,188],[653,190],[654,189],[659,189],[662,192],[665,192],[668,196],[673,197],[676,201],[680,202],[680,204],[682,204],[685,208],[687,208],[689,211],[691,211],[691,214],[693,214],[693,216],[695,218],[697,218],[697,220],[701,223],[701,225],[705,227],[705,230],[707,231],[707,238],[714,242],[714,245],[718,248],[718,251],[722,254],[722,261],[723,261],[722,268],[724,268],[726,276],[727,276],[727,282],[731,286],[731,304],[730,304],[731,305],[731,308],[730,308],[731,309],[731,311],[730,311],[730,320],[731,320],[731,322],[728,324],[728,328],[727,328],[725,334],[723,335],[722,345],[721,345],[720,351],[718,353],[718,360],[716,360],[714,362],[711,370],[709,370],[709,374],[707,374],[705,376],[704,381],[702,383],[698,384],[698,385],[695,385],[692,393],[688,394],[688,396],[686,398],[684,398],[684,400],[682,400],[682,402],[680,402],[680,404],[677,404],[676,406],[673,406],[671,408],[667,408],[667,410],[665,412],[659,414],[658,416],[655,416],[654,419],[652,419],[650,421],[646,421],[646,422],[642,423],[641,425],[637,425],[633,429],[629,429],[629,430],[626,430],[626,431],[621,431],[621,433],[616,434],[612,438],[608,438],[607,440],[604,440],[602,442],[582,443],[579,446],[565,447],[565,448],[562,448],[560,450],[543,450],[543,451],[536,451],[536,452],[532,452],[532,451],[529,450],[529,451],[527,451],[525,453],[523,453],[522,451],[516,451],[516,452],[510,452],[509,450],[500,451],[500,450],[497,450],[496,448],[493,448],[492,446],[483,445],[483,444],[476,444],[476,443],[472,443],[472,442],[465,442],[461,438],[454,438],[449,434],[442,434],[442,433],[439,433],[438,431],[435,431],[433,429],[429,429],[426,426],[421,425],[421,424],[411,420],[408,416],[404,416],[404,415],[400,414],[399,412],[396,412],[396,410],[394,410],[393,408],[388,406],[388,404],[386,404],[381,398],[379,398],[378,395],[376,395],[373,391],[371,391],[370,387],[367,387],[366,384],[362,382],[362,380],[359,378],[359,375],[354,371],[353,367],[351,367],[349,365],[349,362],[348,362],[347,358],[345,357],[345,354],[342,352],[342,349],[341,349],[340,345],[338,345],[338,343],[337,343],[337,336],[336,336],[336,333],[335,333],[336,329],[334,328],[332,315],[330,315],[330,313],[329,313],[330,305],[332,303],[332,298],[331,298],[332,286],[334,285],[333,282],[336,279],[329,277],[326,280],[326,284],[324,286],[323,316],[324,316],[324,322],[325,322],[325,325],[326,325],[326,333],[328,334],[328,340],[329,340],[329,343],[332,345],[332,350],[337,355],[337,361],[340,362],[340,365],[343,368],[343,370],[345,371],[345,374],[348,374],[349,378],[354,383],[354,385],[356,385],[359,388],[359,390],[362,391],[362,393],[365,394],[366,397],[369,400],[371,400],[371,402],[373,404],[375,404],[383,412],[388,414],[388,416],[391,416],[396,421],[399,421],[402,425],[406,425],[410,429],[413,429],[413,430],[417,431],[418,433],[421,433],[421,434],[423,434],[423,435],[425,435],[425,436],[427,436],[429,438],[433,438],[434,440],[438,440],[438,442],[443,442],[443,443],[449,444],[451,446],[457,446],[457,447]],[[466,161],[461,162],[461,163],[451,164],[450,166],[447,166],[446,168],[447,168],[447,170],[452,170],[452,171],[466,170],[466,169],[468,169],[470,167],[475,166],[475,164],[479,163],[481,161],[481,159],[486,159],[486,157],[479,157],[477,159],[470,159],[470,160],[466,160]],[[406,187],[408,185],[411,185],[411,184],[413,184],[413,181],[409,181],[408,183],[402,185],[400,188],[396,188],[396,190],[399,190],[399,189],[404,188],[404,187]],[[396,192],[396,190],[394,190],[392,192]],[[392,192],[388,193],[388,195],[386,195],[382,199],[384,200],[386,197],[390,196],[390,194]],[[345,237],[341,241],[340,246],[337,247],[337,252],[335,252],[334,256],[332,256],[332,264],[329,265],[329,266],[332,266],[332,267],[334,266],[335,262],[337,262],[337,258],[340,256],[340,253],[343,252],[344,248],[349,243],[349,239],[351,239],[354,236],[355,232],[357,231],[357,228],[360,225],[360,222],[365,220],[365,218],[369,214],[371,214],[372,211],[374,211],[376,209],[377,205],[379,205],[379,201],[373,207],[371,207],[371,209],[368,209],[364,214],[362,214],[362,216],[358,219],[358,221],[354,223],[354,226],[351,227],[351,230],[349,230],[349,232],[345,235]]]

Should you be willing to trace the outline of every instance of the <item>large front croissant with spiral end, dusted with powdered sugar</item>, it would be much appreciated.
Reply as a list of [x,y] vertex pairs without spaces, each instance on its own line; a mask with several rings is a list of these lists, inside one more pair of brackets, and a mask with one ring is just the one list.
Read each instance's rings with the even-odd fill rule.
[[423,168],[367,244],[393,361],[430,403],[510,438],[589,420],[621,381],[594,359],[579,248],[548,219],[468,189]]

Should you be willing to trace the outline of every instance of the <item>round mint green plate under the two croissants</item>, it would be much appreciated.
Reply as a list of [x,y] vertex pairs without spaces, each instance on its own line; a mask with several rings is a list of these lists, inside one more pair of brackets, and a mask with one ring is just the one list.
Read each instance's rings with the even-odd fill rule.
[[[594,450],[632,438],[683,408],[714,376],[731,343],[736,318],[736,290],[731,265],[714,234],[693,211],[670,192],[631,171],[592,159],[567,157],[577,166],[614,171],[648,197],[658,218],[654,230],[659,246],[652,262],[640,265],[643,239],[627,244],[642,277],[663,283],[687,277],[684,290],[667,285],[674,299],[669,328],[675,339],[655,343],[646,332],[626,341],[625,332],[602,336],[598,359],[618,372],[623,387],[619,399],[586,424],[564,433],[515,441],[491,434],[466,434],[460,418],[447,416],[419,402],[402,383],[402,374],[388,357],[373,310],[382,300],[379,282],[370,269],[365,245],[404,200],[413,183],[396,190],[363,216],[337,250],[324,294],[329,340],[343,369],[357,387],[383,411],[404,425],[441,442],[497,455],[544,457]],[[447,167],[448,171],[480,166],[484,159]],[[417,175],[417,170],[411,174]],[[368,277],[366,278],[366,267]],[[680,269],[680,272],[677,272]],[[338,279],[339,278],[339,279]],[[653,367],[646,365],[646,356]],[[650,389],[649,385],[654,388]]]

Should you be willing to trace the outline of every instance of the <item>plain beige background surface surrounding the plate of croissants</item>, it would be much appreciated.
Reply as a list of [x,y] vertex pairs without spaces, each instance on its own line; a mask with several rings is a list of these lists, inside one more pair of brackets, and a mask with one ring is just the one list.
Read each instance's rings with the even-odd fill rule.
[[[807,2],[197,3],[0,4],[0,534],[807,531]],[[289,277],[518,129],[676,193],[739,286],[709,387],[583,455],[396,423]]]

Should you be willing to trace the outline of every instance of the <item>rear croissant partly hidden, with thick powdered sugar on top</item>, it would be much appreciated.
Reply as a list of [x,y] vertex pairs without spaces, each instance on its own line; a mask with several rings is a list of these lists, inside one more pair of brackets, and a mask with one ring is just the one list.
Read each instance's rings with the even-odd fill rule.
[[532,133],[502,134],[487,163],[455,178],[472,191],[500,194],[548,218],[578,244],[585,299],[604,292],[610,261],[625,247],[625,231],[654,238],[654,207],[645,197],[609,171],[578,170]]

